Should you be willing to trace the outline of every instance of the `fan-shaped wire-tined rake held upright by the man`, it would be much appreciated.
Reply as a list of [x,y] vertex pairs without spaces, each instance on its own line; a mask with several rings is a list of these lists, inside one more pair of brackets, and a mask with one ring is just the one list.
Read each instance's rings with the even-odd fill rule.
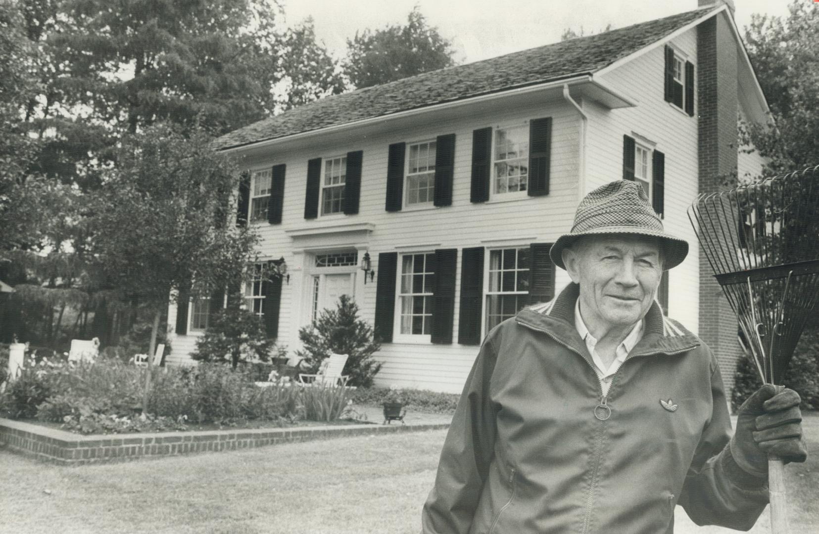
[[[819,300],[819,166],[697,197],[691,225],[764,384],[781,384]],[[788,532],[784,465],[768,459],[771,532]]]

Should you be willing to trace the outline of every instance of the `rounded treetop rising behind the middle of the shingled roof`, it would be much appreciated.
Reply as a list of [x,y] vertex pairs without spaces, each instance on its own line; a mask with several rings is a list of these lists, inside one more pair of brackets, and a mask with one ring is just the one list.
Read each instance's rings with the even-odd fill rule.
[[345,72],[356,88],[369,88],[455,65],[454,53],[452,43],[427,25],[416,6],[405,26],[365,29],[347,39]]

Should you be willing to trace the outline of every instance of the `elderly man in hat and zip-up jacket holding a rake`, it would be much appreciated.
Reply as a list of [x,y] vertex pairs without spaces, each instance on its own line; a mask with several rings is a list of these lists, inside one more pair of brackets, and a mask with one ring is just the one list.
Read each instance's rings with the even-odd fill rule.
[[763,386],[731,438],[717,360],[655,295],[688,244],[642,187],[611,182],[550,251],[572,284],[487,334],[446,437],[423,532],[747,530],[767,453],[804,461],[799,395]]

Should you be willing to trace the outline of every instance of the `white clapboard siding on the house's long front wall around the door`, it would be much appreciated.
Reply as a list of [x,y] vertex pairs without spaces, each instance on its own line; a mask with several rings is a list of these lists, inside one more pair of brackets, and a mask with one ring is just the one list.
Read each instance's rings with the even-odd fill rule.
[[[519,200],[492,201],[473,204],[469,201],[472,172],[473,129],[495,125],[513,125],[527,119],[552,117],[552,145],[550,164],[550,194],[541,197],[523,197]],[[434,119],[432,119],[434,122]],[[439,391],[459,392],[463,388],[478,347],[457,343],[461,276],[461,249],[485,246],[528,246],[532,242],[550,243],[571,227],[578,201],[577,169],[580,119],[577,111],[565,101],[533,102],[514,108],[499,105],[495,110],[469,113],[465,110],[459,119],[434,122],[433,125],[402,127],[396,123],[388,132],[378,136],[352,134],[344,143],[323,144],[314,137],[310,146],[287,150],[255,159],[246,159],[243,167],[258,170],[274,164],[287,164],[284,187],[282,223],[251,222],[261,236],[261,254],[265,259],[283,257],[290,274],[289,283],[282,289],[279,318],[279,343],[289,352],[299,348],[299,328],[308,322],[310,295],[310,251],[312,249],[359,250],[372,258],[373,269],[378,271],[378,254],[382,252],[429,251],[458,249],[455,285],[455,343],[384,343],[376,353],[383,366],[376,384],[396,384],[402,387],[423,387]],[[441,208],[403,209],[389,213],[385,210],[387,187],[387,148],[391,143],[434,140],[441,134],[455,133],[455,170],[452,205]],[[357,215],[331,215],[307,221],[304,218],[305,177],[307,161],[316,157],[344,155],[351,150],[363,150],[360,191],[360,212]],[[333,225],[369,223],[372,231],[318,234],[292,238],[287,231],[322,228]],[[465,223],[465,224],[464,224]],[[457,231],[453,231],[457,228]],[[355,236],[353,236],[355,233]],[[367,235],[369,234],[369,235]],[[563,271],[556,275],[556,285],[568,283]],[[364,284],[363,272],[355,274],[355,299],[360,316],[373,324],[378,277]],[[171,305],[169,324],[175,320]],[[485,316],[484,316],[485,321]],[[485,334],[485,333],[484,333]],[[169,334],[172,344],[170,362],[183,363],[195,345],[196,334]]]

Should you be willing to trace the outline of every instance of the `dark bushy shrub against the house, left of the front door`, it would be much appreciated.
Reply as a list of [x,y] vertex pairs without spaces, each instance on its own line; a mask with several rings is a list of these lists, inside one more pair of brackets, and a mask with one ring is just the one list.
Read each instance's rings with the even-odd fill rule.
[[197,350],[191,357],[196,361],[229,363],[236,369],[240,361],[269,361],[273,348],[274,342],[268,339],[259,316],[230,307],[210,316],[207,330],[197,339]]

